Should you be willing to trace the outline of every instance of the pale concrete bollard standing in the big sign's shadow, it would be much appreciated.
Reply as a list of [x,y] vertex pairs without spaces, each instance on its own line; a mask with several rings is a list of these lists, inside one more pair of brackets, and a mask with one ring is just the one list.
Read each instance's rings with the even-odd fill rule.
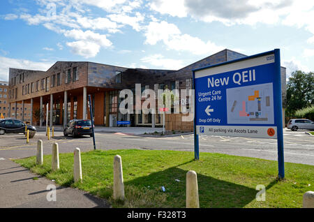
[[197,175],[193,170],[186,173],[186,208],[200,208]]

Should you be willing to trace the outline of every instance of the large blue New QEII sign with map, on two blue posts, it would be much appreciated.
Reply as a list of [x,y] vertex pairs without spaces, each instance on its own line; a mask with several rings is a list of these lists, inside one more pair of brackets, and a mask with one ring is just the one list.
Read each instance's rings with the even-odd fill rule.
[[[193,84],[195,158],[199,156],[200,134],[277,138],[283,170],[279,50],[197,68],[193,71]],[[280,172],[280,176],[284,173]]]

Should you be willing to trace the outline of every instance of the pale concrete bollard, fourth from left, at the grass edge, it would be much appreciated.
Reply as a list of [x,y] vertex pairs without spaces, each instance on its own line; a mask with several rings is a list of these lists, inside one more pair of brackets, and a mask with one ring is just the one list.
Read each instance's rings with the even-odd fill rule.
[[124,176],[122,173],[121,156],[114,156],[114,200],[124,200]]

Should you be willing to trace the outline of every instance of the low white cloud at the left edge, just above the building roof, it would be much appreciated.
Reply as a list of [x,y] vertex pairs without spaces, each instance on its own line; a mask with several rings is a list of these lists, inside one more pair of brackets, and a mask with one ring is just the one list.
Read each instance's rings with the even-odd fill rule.
[[30,70],[47,71],[54,62],[29,61],[27,59],[12,59],[0,57],[0,80],[8,81],[9,68],[24,68]]

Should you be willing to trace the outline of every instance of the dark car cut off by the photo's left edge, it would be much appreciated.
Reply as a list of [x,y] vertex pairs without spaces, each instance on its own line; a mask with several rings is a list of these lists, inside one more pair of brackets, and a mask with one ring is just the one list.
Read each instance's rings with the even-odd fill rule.
[[35,126],[24,124],[24,122],[18,119],[0,119],[0,135],[4,133],[24,133],[25,126],[29,130],[29,138],[33,138],[36,133]]

